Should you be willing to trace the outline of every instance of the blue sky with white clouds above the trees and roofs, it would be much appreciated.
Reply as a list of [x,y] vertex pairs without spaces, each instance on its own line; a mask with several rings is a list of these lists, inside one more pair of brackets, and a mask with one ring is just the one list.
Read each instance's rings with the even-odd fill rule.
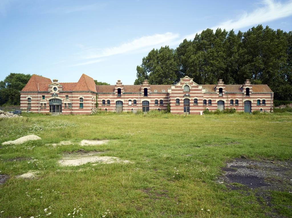
[[133,84],[152,48],[206,28],[292,30],[292,1],[0,0],[0,80],[10,73]]

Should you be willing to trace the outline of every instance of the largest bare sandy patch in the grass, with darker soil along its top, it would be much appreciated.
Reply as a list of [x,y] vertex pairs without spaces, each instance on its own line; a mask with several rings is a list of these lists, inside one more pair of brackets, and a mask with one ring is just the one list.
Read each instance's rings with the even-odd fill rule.
[[[80,149],[82,150],[82,149]],[[79,151],[80,151],[79,150]],[[78,152],[77,154],[71,153],[64,155],[64,157],[58,161],[61,166],[79,166],[86,163],[95,163],[99,164],[111,164],[111,163],[130,163],[128,160],[121,160],[118,157],[108,157],[108,156],[97,156],[104,152],[91,151],[91,152]]]

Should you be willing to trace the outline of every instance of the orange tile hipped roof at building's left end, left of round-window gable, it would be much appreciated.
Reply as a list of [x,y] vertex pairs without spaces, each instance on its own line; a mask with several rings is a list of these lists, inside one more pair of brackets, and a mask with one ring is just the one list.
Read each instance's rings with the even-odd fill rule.
[[33,74],[21,91],[48,91],[51,83],[51,79]]

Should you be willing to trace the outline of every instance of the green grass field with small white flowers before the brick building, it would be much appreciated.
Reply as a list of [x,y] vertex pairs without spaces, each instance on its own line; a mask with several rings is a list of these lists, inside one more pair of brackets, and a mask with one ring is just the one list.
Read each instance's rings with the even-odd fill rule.
[[[4,118],[0,142],[41,140],[1,145],[0,174],[9,178],[0,185],[0,217],[292,217],[289,185],[267,189],[263,203],[256,189],[218,182],[226,162],[242,155],[292,160],[291,127],[289,113]],[[109,142],[81,147],[83,139]],[[72,143],[48,145],[64,140]],[[81,148],[131,163],[58,164]],[[33,170],[37,178],[16,177]]]

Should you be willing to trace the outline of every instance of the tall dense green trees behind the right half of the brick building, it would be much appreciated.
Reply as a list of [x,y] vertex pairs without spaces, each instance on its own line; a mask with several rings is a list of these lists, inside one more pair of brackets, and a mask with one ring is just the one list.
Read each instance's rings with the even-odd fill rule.
[[292,31],[258,25],[246,32],[206,29],[176,49],[152,49],[137,66],[135,84],[175,84],[189,76],[198,84],[268,84],[276,100],[292,100]]

